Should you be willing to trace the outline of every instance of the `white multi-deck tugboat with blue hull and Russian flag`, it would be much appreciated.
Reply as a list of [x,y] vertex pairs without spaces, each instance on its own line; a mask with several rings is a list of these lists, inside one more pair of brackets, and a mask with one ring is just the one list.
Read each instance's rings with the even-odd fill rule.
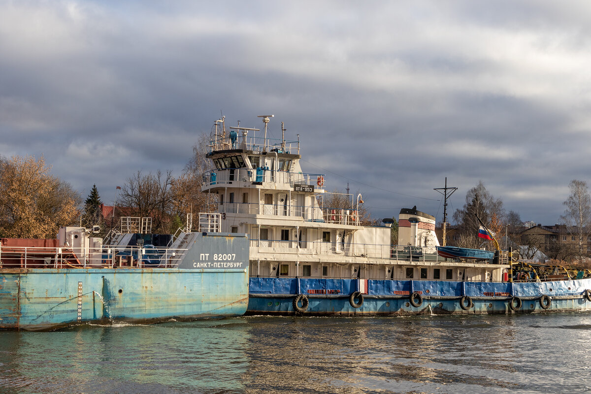
[[438,253],[435,217],[417,207],[400,211],[399,245],[390,245],[391,220],[361,223],[361,194],[347,206],[323,203],[325,175],[303,172],[299,135],[286,141],[283,123],[281,139],[267,138],[272,117],[259,116],[264,131],[227,130],[225,118],[217,120],[206,153],[213,165],[203,174],[202,191],[216,201],[205,224],[250,238],[247,314],[591,310],[589,278],[514,281],[510,252]]

